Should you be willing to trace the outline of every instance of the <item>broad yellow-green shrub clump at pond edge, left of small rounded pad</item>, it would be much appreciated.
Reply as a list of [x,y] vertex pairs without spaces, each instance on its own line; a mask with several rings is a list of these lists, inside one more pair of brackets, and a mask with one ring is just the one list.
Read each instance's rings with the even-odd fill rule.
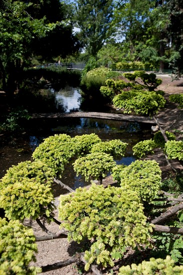
[[100,138],[94,133],[76,135],[73,138],[64,133],[55,134],[45,138],[35,148],[32,158],[46,163],[55,175],[61,176],[65,165],[72,157],[88,153],[92,145],[99,141]]

